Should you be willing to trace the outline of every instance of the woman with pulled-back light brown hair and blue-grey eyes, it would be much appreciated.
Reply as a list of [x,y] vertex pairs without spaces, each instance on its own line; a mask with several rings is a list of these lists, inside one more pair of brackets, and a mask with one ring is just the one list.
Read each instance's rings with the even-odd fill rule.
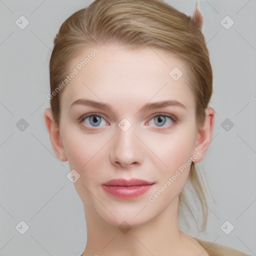
[[69,162],[83,205],[87,255],[246,255],[178,227],[191,182],[207,217],[195,163],[214,125],[212,70],[194,19],[160,0],[96,0],[54,39],[52,148]]

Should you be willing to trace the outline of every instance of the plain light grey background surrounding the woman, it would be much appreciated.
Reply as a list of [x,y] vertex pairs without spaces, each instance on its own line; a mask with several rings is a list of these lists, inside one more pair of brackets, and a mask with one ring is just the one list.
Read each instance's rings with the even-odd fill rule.
[[[83,205],[66,177],[68,163],[53,153],[43,111],[49,107],[53,38],[69,15],[90,2],[0,0],[0,255],[78,256],[85,247]],[[166,2],[193,14],[194,0]],[[256,255],[256,1],[198,4],[213,69],[210,106],[216,117],[211,144],[197,166],[213,200],[205,232],[182,223],[181,229]],[[21,15],[29,21],[24,29],[15,23]],[[229,29],[221,24],[226,15],[234,21]],[[21,118],[28,123],[23,131],[17,127]],[[222,127],[226,118],[234,124],[229,130]],[[29,226],[24,234],[15,228],[21,220]],[[229,234],[220,228],[226,220],[234,226]]]

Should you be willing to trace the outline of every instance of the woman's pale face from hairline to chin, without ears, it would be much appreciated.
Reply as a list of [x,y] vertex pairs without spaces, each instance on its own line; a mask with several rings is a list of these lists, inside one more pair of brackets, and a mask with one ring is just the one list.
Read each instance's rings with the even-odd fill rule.
[[[69,65],[75,75],[60,101],[63,152],[80,175],[74,185],[87,215],[137,226],[171,205],[191,160],[203,156],[196,147],[195,100],[184,63],[163,51],[97,49],[86,65],[80,61],[94,48]],[[105,186],[117,178],[151,185]]]

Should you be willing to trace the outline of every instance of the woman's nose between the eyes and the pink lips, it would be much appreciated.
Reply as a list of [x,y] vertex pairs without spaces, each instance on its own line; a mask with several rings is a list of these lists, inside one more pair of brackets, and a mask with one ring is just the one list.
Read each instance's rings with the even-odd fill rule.
[[109,159],[117,167],[128,167],[142,163],[142,143],[133,134],[132,126],[126,131],[117,129],[117,134],[112,140]]

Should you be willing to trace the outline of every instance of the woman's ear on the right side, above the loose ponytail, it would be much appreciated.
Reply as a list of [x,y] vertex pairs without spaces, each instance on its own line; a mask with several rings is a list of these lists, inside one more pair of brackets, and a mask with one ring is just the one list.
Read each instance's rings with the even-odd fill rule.
[[198,157],[193,162],[199,162],[205,154],[212,137],[213,126],[215,120],[215,111],[212,107],[207,107],[205,110],[205,121],[203,126],[197,130],[196,142],[194,147],[194,154],[196,152]]

